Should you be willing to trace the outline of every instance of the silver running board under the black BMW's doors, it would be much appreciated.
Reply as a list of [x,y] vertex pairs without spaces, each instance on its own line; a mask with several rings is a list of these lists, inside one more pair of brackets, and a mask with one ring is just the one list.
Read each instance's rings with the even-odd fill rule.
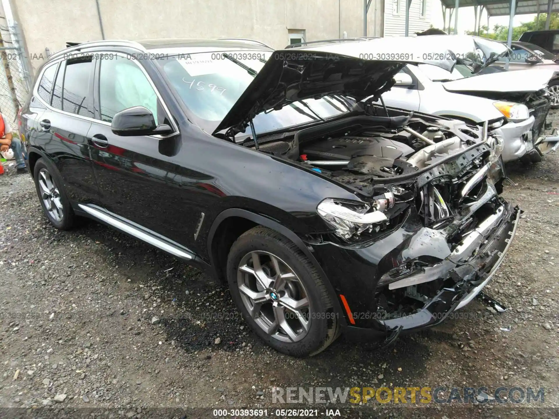
[[177,256],[177,258],[184,260],[192,260],[195,258],[195,255],[190,253],[186,247],[179,245],[177,242],[166,239],[156,232],[148,230],[147,228],[144,228],[132,221],[126,220],[126,218],[122,218],[116,214],[105,211],[100,207],[83,204],[78,204],[78,207],[92,217],[97,218],[97,220],[100,220],[111,227],[115,227],[117,230],[125,232],[132,237],[136,237],[136,239],[145,241],[146,243],[166,251],[173,256]]

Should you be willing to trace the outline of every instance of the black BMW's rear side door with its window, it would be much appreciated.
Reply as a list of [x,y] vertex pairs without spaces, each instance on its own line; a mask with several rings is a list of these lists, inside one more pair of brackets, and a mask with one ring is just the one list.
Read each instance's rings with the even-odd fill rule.
[[37,118],[37,146],[56,165],[70,200],[98,202],[87,142],[93,116],[92,59],[60,60],[45,68],[41,80],[51,76],[51,83],[45,80],[37,86],[45,106]]

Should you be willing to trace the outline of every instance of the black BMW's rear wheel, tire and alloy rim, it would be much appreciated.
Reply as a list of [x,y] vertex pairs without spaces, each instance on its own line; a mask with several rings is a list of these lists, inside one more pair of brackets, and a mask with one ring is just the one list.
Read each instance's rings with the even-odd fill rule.
[[[64,191],[64,183],[54,165],[43,158],[37,160],[33,169],[33,179],[39,202],[49,222],[58,230],[70,230],[74,227],[77,217],[70,205],[68,195]],[[46,189],[50,191],[50,196],[45,194],[45,185]]]

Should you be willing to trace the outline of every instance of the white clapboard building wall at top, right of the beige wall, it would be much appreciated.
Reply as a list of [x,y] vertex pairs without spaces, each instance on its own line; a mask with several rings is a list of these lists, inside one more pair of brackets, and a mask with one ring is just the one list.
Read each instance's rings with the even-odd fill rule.
[[[431,26],[433,0],[425,0],[425,15],[421,16],[421,1],[411,0],[408,36]],[[404,36],[406,28],[406,0],[385,0],[383,36]]]

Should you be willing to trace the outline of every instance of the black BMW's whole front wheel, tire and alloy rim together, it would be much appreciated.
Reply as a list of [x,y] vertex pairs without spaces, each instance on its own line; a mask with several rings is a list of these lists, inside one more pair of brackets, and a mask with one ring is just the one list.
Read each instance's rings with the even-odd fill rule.
[[[260,277],[254,274],[255,258],[262,266]],[[227,260],[227,279],[233,301],[245,321],[268,346],[283,354],[318,354],[340,334],[333,297],[316,268],[299,247],[271,228],[254,227],[234,242]],[[250,299],[247,289],[258,299]],[[285,304],[300,309],[291,311]]]

